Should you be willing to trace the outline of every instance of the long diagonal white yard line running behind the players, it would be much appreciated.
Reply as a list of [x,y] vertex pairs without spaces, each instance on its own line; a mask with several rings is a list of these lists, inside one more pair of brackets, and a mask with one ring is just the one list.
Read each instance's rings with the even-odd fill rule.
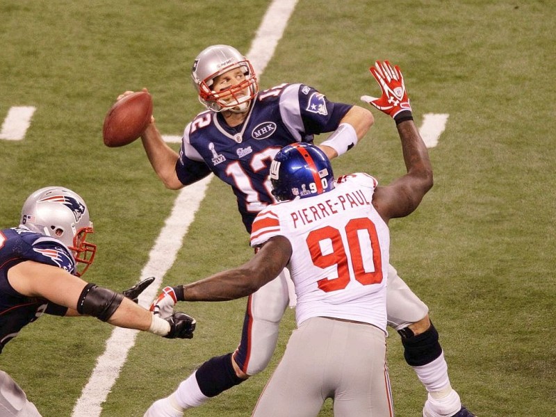
[[[259,77],[274,55],[278,40],[284,33],[284,28],[286,28],[296,4],[297,0],[274,0],[266,11],[251,50],[247,53]],[[174,140],[173,138],[177,136],[165,136],[165,140],[168,137],[170,140]],[[178,142],[181,142],[181,136]],[[213,179],[213,175],[183,188],[174,202],[172,213],[167,218],[161,234],[149,253],[149,261],[141,272],[140,280],[152,276],[156,278],[153,284],[140,295],[139,304],[142,306],[148,306],[158,294],[162,277],[174,263],[183,236],[195,218],[195,213],[204,199],[206,187],[211,179]],[[75,404],[72,417],[100,416],[101,404],[108,398],[108,393],[120,375],[127,354],[135,343],[137,333],[136,330],[115,327],[111,337],[106,341],[104,354],[97,359],[97,366],[92,371],[89,382],[83,388],[81,398]]]

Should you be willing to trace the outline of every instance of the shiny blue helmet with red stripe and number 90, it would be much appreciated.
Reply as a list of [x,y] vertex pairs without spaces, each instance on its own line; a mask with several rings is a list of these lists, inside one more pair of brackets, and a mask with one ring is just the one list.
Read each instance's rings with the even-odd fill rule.
[[309,143],[280,149],[270,165],[272,195],[279,201],[305,198],[334,189],[332,165],[322,150]]

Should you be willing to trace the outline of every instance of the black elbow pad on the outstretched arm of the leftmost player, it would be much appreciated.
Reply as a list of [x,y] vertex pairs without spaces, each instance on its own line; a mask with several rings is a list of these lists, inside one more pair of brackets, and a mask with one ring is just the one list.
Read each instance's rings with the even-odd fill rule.
[[123,299],[124,295],[121,293],[99,287],[96,284],[87,284],[79,295],[77,311],[79,314],[106,321],[112,317]]

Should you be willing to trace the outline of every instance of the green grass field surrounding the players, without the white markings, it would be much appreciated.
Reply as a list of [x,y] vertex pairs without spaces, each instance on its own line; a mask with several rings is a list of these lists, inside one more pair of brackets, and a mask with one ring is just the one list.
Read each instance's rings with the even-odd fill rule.
[[[464,404],[480,417],[545,417],[556,409],[556,3],[300,0],[261,88],[313,85],[334,101],[378,94],[377,59],[400,65],[419,125],[448,113],[430,150],[435,185],[416,213],[391,222],[391,261],[430,307]],[[108,149],[106,111],[124,90],[149,88],[163,134],[179,135],[202,110],[190,83],[209,44],[247,53],[268,0],[0,2],[0,120],[35,106],[22,141],[0,140],[0,227],[17,225],[33,190],[80,193],[99,245],[85,279],[121,290],[140,276],[176,193],[165,190],[139,142]],[[394,124],[375,126],[334,161],[382,183],[404,172]],[[320,141],[321,138],[318,139]],[[177,145],[172,145],[176,146]],[[165,284],[238,265],[252,251],[231,191],[212,181]],[[102,405],[102,417],[140,417],[204,360],[234,350],[245,300],[182,303],[195,338],[140,334]],[[188,416],[249,416],[295,326],[282,322],[263,374]],[[0,356],[44,417],[70,416],[111,327],[92,318],[43,317]],[[425,390],[391,331],[397,416],[420,416]],[[320,416],[332,416],[327,403]]]

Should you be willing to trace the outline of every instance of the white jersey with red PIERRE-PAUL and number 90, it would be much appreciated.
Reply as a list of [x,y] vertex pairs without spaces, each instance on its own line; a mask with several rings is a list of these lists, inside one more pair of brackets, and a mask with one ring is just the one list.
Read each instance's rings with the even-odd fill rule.
[[334,190],[272,204],[256,216],[252,246],[272,236],[291,243],[288,269],[298,326],[320,316],[367,322],[386,332],[390,234],[371,204],[377,184],[368,174],[350,174]]

